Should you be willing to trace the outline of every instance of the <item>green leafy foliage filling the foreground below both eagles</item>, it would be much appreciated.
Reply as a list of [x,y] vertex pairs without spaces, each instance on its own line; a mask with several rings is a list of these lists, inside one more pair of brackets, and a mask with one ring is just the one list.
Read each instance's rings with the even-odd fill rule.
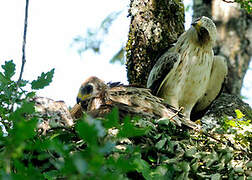
[[[12,61],[0,73],[0,178],[2,179],[241,179],[251,172],[251,122],[236,110],[215,131],[221,138],[176,127],[169,119],[126,117],[114,109],[107,117],[88,115],[72,128],[46,135],[36,131],[38,117],[30,98],[11,79]],[[51,82],[42,73],[35,87]],[[42,80],[40,80],[42,79]],[[22,80],[22,87],[32,82]],[[247,127],[247,128],[246,128]],[[208,133],[210,134],[210,133]],[[228,139],[234,137],[232,141]],[[219,140],[218,140],[219,139]],[[222,143],[221,143],[222,142]],[[223,143],[228,142],[228,143]],[[240,145],[237,148],[230,143]],[[242,151],[245,149],[246,151]]]

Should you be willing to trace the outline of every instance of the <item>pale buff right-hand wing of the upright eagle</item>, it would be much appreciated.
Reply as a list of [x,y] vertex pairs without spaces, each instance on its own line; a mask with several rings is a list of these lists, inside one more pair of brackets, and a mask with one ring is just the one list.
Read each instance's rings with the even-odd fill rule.
[[221,89],[228,73],[227,63],[224,57],[214,56],[211,75],[206,92],[199,99],[194,107],[195,112],[205,110],[216,97],[221,93]]

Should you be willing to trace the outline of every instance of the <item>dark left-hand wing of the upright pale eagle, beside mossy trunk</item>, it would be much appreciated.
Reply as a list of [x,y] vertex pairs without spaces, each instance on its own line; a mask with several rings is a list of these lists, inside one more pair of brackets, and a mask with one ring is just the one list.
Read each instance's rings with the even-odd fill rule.
[[147,88],[150,88],[153,94],[157,94],[161,83],[179,59],[179,54],[172,52],[172,49],[158,59],[147,80]]

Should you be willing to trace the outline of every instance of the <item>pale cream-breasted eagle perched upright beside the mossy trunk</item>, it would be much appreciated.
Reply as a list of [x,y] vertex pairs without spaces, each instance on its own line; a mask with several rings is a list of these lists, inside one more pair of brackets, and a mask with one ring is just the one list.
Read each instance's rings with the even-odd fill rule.
[[211,19],[196,19],[158,59],[148,77],[147,88],[168,104],[183,108],[188,119],[195,105],[195,111],[210,105],[227,75],[225,59],[213,53],[216,36]]

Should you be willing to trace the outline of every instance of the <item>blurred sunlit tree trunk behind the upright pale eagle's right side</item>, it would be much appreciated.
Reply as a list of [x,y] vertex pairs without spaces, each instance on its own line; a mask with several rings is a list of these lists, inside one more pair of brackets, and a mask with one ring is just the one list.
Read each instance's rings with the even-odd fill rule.
[[243,78],[252,56],[252,15],[237,3],[221,0],[194,0],[193,17],[212,18],[218,30],[215,54],[228,62],[228,78],[225,91],[240,95]]

